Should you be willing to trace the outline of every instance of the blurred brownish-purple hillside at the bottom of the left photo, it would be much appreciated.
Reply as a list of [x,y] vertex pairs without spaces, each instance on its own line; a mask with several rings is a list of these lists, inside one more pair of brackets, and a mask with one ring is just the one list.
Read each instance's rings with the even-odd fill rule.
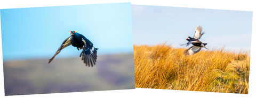
[[[50,57],[49,57],[50,58]],[[5,95],[135,88],[133,54],[98,56],[93,67],[81,58],[4,61]]]

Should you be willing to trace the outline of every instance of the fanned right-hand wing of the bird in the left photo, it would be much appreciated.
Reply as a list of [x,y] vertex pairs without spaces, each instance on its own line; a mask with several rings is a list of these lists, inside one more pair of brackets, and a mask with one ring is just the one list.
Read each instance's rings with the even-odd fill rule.
[[[88,42],[88,41],[87,41]],[[95,65],[95,62],[97,60],[97,50],[98,48],[94,48],[93,46],[89,46],[86,44],[86,41],[84,41],[84,47],[83,47],[83,51],[80,54],[81,60],[84,61],[84,64],[90,67],[90,65],[93,67],[93,65]]]

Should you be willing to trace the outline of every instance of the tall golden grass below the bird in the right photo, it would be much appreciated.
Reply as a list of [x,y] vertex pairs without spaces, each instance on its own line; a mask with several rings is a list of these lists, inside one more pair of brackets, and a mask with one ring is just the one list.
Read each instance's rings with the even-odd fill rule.
[[186,49],[134,45],[135,86],[248,94],[250,52],[220,47],[185,56]]

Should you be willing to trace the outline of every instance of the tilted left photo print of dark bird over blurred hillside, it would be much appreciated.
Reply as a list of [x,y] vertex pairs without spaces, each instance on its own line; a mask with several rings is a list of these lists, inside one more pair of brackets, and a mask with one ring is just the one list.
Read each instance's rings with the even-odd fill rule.
[[0,12],[5,96],[135,89],[131,3]]

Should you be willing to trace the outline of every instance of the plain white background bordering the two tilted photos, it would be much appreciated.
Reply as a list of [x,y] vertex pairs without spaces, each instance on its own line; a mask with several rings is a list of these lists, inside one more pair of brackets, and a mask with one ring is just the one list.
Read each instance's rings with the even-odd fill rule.
[[[94,91],[94,92],[75,92],[75,93],[57,93],[57,94],[34,94],[34,95],[17,95],[5,97],[256,97],[256,81],[255,81],[255,1],[133,1],[133,0],[108,0],[108,1],[54,1],[54,0],[9,0],[0,1],[0,9],[5,8],[24,8],[24,7],[45,7],[45,6],[63,6],[63,5],[84,5],[84,4],[102,4],[102,3],[121,3],[131,2],[131,4],[139,5],[157,5],[157,6],[173,6],[173,7],[190,7],[190,8],[210,8],[218,10],[236,10],[236,11],[253,11],[252,24],[252,46],[251,46],[251,66],[250,66],[250,80],[249,80],[249,94],[229,94],[229,93],[213,93],[213,92],[195,92],[195,91],[178,91],[178,90],[155,90],[148,88],[136,88],[134,90],[114,90],[114,91]],[[1,29],[1,26],[0,26]],[[1,36],[1,35],[0,35]],[[2,37],[0,37],[1,39]],[[0,50],[2,51],[2,39],[0,40]],[[0,54],[2,59],[2,52]],[[0,64],[3,61],[0,60]],[[3,66],[0,67],[0,97],[4,96],[4,78]]]

